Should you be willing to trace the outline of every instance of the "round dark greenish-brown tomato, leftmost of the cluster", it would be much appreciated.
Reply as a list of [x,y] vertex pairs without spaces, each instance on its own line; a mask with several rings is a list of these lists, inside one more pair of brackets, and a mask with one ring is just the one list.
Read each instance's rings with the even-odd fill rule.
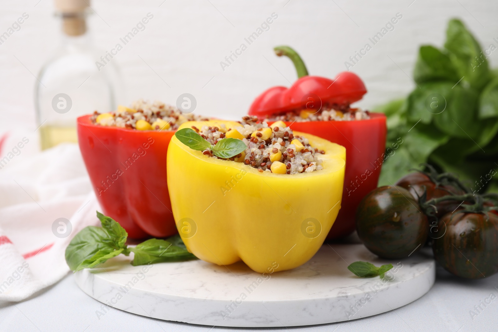
[[418,202],[402,187],[371,191],[356,213],[356,229],[365,246],[382,258],[404,258],[427,240],[429,224]]

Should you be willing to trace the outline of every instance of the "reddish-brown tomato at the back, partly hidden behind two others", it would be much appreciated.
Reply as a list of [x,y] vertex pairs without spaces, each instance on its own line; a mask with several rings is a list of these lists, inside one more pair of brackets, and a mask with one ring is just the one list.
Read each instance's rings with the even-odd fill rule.
[[[441,185],[436,187],[436,184],[431,181],[431,179],[420,172],[413,172],[405,175],[398,182],[395,183],[396,186],[403,187],[407,189],[410,194],[418,200],[418,197],[422,196],[424,193],[424,187],[427,189],[427,200],[433,198],[440,198],[443,196],[448,196],[450,194],[463,195],[465,194],[463,190],[452,186],[452,185]],[[418,196],[417,196],[418,194]],[[446,201],[436,204],[437,214],[436,217],[439,219],[446,215],[448,212],[453,212],[462,202],[457,201]]]

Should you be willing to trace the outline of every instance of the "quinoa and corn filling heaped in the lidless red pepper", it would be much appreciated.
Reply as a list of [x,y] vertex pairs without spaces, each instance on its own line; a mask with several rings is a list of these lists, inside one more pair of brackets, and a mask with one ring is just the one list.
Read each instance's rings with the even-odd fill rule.
[[137,130],[176,130],[186,121],[202,121],[207,118],[196,114],[184,114],[176,107],[161,102],[149,103],[142,99],[131,106],[118,106],[109,113],[95,111],[90,120],[94,124]]

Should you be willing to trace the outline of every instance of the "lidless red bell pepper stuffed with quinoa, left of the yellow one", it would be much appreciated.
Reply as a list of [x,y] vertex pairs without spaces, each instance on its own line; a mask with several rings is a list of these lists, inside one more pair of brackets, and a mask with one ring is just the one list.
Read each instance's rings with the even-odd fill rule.
[[78,144],[97,200],[130,237],[177,232],[166,183],[166,152],[178,125],[192,119],[198,116],[143,101],[77,119]]

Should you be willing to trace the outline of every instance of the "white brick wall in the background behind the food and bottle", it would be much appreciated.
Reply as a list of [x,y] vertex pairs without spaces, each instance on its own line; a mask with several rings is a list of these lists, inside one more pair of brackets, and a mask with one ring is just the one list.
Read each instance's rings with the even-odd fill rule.
[[[2,0],[1,32],[23,12],[30,16],[21,30],[0,45],[0,133],[18,127],[36,128],[35,78],[29,71],[37,75],[57,46],[60,29],[52,1],[41,0],[35,6],[37,1]],[[114,47],[147,12],[154,15],[146,29],[113,60],[124,77],[127,100],[123,102],[144,97],[175,103],[178,95],[188,92],[197,98],[197,112],[234,119],[245,114],[252,99],[266,88],[289,86],[287,80],[296,79],[291,62],[273,54],[275,45],[291,45],[304,58],[310,74],[333,78],[345,70],[344,62],[355,51],[367,42],[372,45],[369,37],[401,13],[403,18],[394,30],[373,45],[352,69],[369,90],[360,106],[371,108],[412,89],[407,75],[411,76],[418,46],[441,45],[450,17],[463,18],[483,46],[498,37],[496,0],[415,0],[411,5],[412,0],[166,0],[159,7],[161,2],[91,3],[98,13],[91,18],[94,39],[104,50]],[[270,29],[223,71],[220,61],[245,42],[244,38],[272,12],[278,18]],[[494,52],[492,64],[497,60],[498,52]]]

